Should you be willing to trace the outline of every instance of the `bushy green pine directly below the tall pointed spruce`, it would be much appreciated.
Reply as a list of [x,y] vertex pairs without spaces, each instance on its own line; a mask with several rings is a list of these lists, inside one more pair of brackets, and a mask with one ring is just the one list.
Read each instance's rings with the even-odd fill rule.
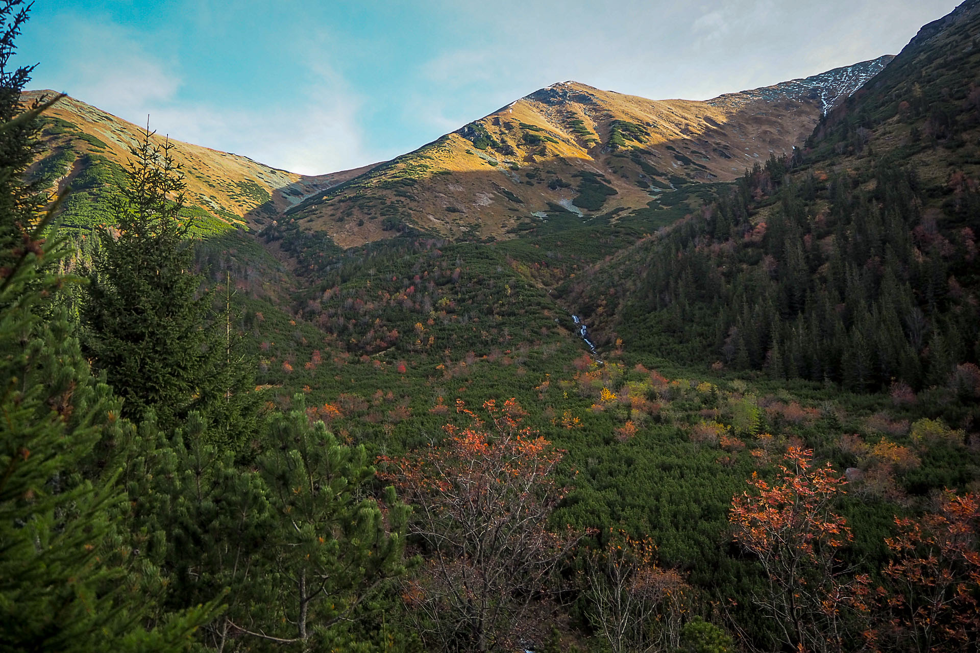
[[161,574],[147,593],[170,609],[221,596],[223,612],[199,634],[223,650],[239,634],[233,623],[270,610],[275,575],[263,550],[277,525],[268,489],[235,464],[234,452],[210,442],[196,411],[172,434],[160,431],[152,409],[140,427],[124,475],[134,545]]

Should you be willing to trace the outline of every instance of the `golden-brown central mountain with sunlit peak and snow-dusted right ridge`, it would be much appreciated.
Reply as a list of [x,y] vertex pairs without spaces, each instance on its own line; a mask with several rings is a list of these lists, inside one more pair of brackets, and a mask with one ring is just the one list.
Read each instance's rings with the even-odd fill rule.
[[287,212],[349,246],[379,218],[389,231],[502,237],[535,213],[643,209],[664,190],[731,181],[790,153],[890,60],[707,102],[553,84]]

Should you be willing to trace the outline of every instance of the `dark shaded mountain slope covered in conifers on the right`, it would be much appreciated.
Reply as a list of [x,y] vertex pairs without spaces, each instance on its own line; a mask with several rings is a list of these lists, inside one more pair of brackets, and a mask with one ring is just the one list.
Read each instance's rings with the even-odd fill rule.
[[565,300],[600,344],[931,406],[975,399],[977,70],[970,0],[831,110],[801,157],[578,275]]

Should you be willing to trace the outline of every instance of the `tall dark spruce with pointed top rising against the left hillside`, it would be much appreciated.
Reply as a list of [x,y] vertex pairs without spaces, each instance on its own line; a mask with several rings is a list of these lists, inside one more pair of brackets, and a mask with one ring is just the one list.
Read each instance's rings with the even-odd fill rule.
[[212,297],[191,272],[193,253],[179,221],[185,184],[173,145],[147,129],[115,208],[118,234],[102,234],[81,314],[85,346],[123,396],[123,416],[153,408],[162,428],[203,412],[211,437],[237,441],[254,428],[252,377],[230,334],[219,333]]

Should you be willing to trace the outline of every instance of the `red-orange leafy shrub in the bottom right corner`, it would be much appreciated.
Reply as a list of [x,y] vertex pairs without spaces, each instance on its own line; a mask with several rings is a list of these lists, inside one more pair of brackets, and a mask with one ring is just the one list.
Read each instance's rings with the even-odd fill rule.
[[[885,586],[864,593],[875,651],[976,651],[980,647],[980,497],[946,490],[939,511],[896,518]],[[861,579],[868,583],[866,578]]]

